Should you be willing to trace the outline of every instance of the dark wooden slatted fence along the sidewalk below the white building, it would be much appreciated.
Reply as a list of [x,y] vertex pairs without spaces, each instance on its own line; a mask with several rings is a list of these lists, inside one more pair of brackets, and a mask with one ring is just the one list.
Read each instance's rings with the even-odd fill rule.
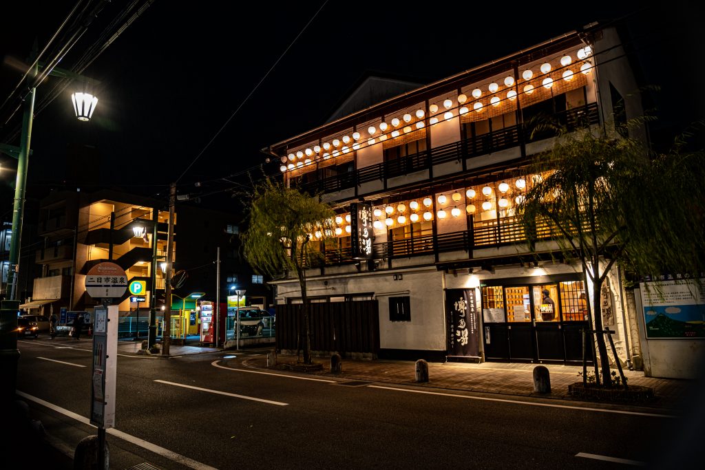
[[[379,352],[379,310],[376,300],[310,304],[311,350],[317,354]],[[301,304],[276,306],[276,349],[299,350],[304,335]]]

